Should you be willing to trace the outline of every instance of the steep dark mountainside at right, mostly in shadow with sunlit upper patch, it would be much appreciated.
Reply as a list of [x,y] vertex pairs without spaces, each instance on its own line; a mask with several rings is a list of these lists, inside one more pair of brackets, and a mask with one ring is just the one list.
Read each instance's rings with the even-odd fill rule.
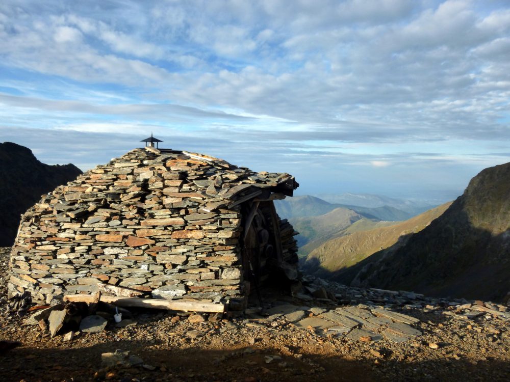
[[359,269],[359,285],[502,299],[510,291],[510,163],[481,171],[438,219]]

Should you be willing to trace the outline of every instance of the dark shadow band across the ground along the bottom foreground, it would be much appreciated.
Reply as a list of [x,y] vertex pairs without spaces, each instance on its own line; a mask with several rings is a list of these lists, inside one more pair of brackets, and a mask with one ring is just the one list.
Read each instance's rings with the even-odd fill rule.
[[[86,337],[84,337],[86,339]],[[81,339],[80,339],[81,341]],[[63,345],[64,346],[64,345]],[[69,345],[66,345],[69,346]],[[162,346],[164,348],[157,348]],[[101,353],[130,350],[146,365],[101,369]],[[266,363],[266,357],[278,356]],[[34,381],[471,381],[508,380],[510,364],[489,360],[352,360],[303,354],[298,359],[274,348],[239,346],[229,350],[171,348],[140,341],[117,341],[82,348],[19,347],[0,356],[0,380]],[[97,373],[97,374],[95,374]],[[95,376],[94,376],[95,375]]]

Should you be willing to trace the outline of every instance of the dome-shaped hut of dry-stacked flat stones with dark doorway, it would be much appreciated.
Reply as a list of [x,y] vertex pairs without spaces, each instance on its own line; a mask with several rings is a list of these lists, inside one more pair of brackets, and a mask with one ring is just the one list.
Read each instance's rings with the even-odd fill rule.
[[273,204],[297,186],[206,155],[132,150],[21,216],[9,294],[50,303],[116,286],[242,308],[267,278],[297,278],[296,232]]

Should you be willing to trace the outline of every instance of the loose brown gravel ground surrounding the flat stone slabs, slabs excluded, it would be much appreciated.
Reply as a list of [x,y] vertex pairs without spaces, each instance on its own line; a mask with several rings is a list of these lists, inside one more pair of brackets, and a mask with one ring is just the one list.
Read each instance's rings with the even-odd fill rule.
[[[0,353],[1,381],[510,379],[510,320],[489,314],[473,320],[455,319],[444,314],[454,309],[444,303],[395,307],[395,311],[421,320],[415,327],[423,334],[401,343],[386,338],[378,342],[349,340],[343,335],[297,328],[284,317],[201,315],[203,321],[193,322],[201,318],[159,310],[133,310],[136,323],[125,328],[110,325],[101,333],[78,332],[70,341],[62,335],[50,338],[38,325],[25,325],[23,318],[7,312],[8,251],[0,249],[0,340],[21,345]],[[263,292],[265,304],[332,308],[274,290]],[[355,305],[363,303],[363,297],[356,296]],[[137,366],[101,365],[101,354],[117,349],[130,351],[143,362]]]

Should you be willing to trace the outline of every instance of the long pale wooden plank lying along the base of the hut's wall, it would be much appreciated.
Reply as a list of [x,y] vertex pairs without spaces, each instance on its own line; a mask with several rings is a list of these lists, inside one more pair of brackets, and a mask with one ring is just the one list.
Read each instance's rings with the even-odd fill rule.
[[[92,303],[94,296],[91,294],[69,294],[64,296],[65,302],[83,302]],[[200,301],[173,301],[159,298],[137,298],[137,297],[117,297],[117,296],[101,296],[100,301],[118,305],[119,307],[135,307],[135,308],[151,308],[166,310],[181,310],[192,312],[210,312],[224,313],[224,304],[213,304]]]

